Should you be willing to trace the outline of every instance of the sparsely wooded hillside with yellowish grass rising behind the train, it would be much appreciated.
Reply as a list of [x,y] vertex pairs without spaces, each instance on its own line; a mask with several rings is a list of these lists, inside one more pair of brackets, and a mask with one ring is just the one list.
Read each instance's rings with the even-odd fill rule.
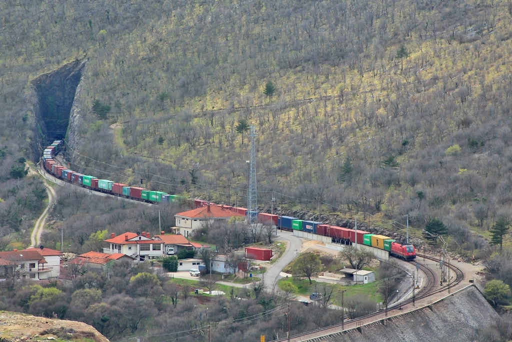
[[410,214],[419,227],[441,217],[460,245],[468,226],[510,218],[508,2],[52,0],[0,11],[11,159],[36,155],[34,79],[80,59],[70,143],[83,173],[243,204],[253,124],[262,206],[276,191],[288,207],[321,200]]

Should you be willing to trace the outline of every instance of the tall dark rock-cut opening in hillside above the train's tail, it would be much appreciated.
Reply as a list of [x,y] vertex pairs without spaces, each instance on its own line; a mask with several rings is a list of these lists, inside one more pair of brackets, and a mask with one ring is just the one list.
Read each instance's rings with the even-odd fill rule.
[[85,63],[77,60],[33,82],[37,94],[38,125],[48,143],[63,139],[68,131],[71,107]]

